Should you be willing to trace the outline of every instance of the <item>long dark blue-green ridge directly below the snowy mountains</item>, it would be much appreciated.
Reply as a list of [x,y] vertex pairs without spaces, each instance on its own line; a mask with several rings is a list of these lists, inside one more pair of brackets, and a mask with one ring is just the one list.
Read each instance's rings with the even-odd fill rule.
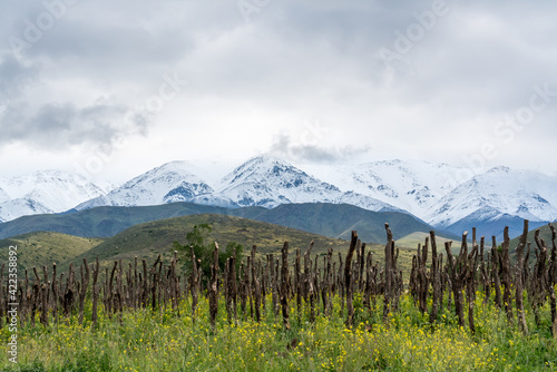
[[391,225],[395,239],[414,232],[429,233],[431,229],[429,225],[408,214],[378,213],[346,204],[307,203],[281,205],[273,209],[227,209],[174,203],[148,207],[98,207],[60,215],[26,216],[0,224],[0,238],[33,231],[52,231],[84,237],[110,237],[137,224],[207,213],[245,217],[330,237],[350,238],[350,232],[356,229],[362,241],[379,243],[382,243],[385,236],[384,223]]

